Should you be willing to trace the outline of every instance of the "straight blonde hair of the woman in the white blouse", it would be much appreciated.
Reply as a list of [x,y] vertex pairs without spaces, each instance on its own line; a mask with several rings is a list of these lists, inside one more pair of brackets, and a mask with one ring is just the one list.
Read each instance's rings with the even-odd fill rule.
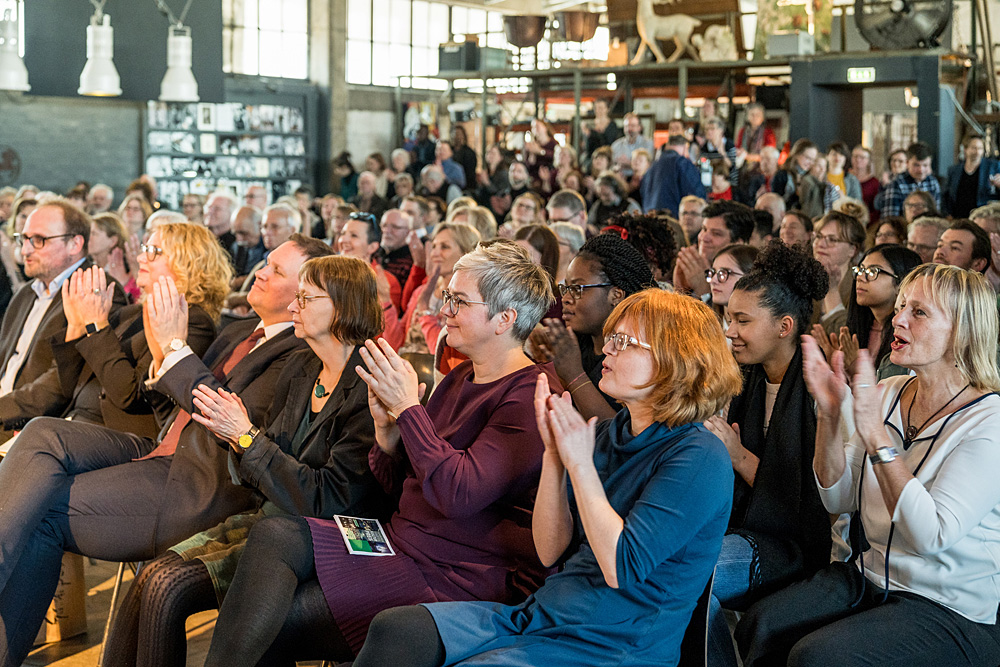
[[949,264],[921,264],[903,278],[896,296],[899,308],[918,280],[931,301],[951,316],[951,351],[955,366],[974,389],[1000,391],[997,370],[997,297],[978,271]]

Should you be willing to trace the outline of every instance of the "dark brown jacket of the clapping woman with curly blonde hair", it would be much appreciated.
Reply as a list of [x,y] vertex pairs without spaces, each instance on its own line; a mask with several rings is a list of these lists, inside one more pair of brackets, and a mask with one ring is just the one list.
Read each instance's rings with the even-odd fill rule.
[[[142,306],[126,306],[109,322],[111,326],[92,336],[66,342],[61,332],[53,338],[60,383],[71,396],[63,416],[155,438],[174,405],[145,383],[153,354],[143,330]],[[215,340],[215,322],[200,306],[188,310],[186,340],[196,355],[205,354]]]

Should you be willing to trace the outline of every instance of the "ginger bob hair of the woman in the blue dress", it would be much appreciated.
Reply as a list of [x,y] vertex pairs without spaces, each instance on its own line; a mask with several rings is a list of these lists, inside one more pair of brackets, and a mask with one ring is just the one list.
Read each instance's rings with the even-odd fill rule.
[[704,421],[740,393],[743,376],[718,317],[704,302],[645,289],[615,306],[604,334],[613,334],[623,320],[653,346],[653,378],[646,386],[653,388],[654,420],[671,428]]

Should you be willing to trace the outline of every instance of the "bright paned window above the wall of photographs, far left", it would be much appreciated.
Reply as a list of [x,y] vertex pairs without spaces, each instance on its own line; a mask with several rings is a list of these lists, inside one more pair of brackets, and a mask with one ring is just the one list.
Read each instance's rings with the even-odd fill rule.
[[308,0],[223,0],[222,69],[230,74],[307,78]]

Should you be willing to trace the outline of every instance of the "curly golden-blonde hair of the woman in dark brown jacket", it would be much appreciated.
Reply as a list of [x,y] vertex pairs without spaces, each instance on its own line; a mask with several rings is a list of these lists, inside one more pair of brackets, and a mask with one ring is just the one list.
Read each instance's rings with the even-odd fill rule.
[[218,320],[233,269],[215,234],[208,227],[189,222],[167,222],[155,233],[160,235],[160,247],[177,276],[177,291],[188,304],[201,306]]

